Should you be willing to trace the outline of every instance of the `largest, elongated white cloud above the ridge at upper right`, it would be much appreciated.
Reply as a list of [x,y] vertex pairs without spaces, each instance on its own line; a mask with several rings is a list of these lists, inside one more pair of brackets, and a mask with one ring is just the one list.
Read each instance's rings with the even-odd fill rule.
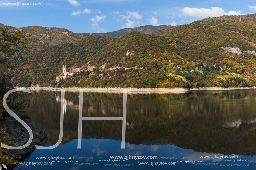
[[219,17],[222,15],[242,15],[241,11],[229,11],[227,13],[222,8],[219,8],[219,7],[211,7],[211,9],[185,7],[181,9],[181,11],[185,17],[190,16],[190,17],[198,17],[198,18]]

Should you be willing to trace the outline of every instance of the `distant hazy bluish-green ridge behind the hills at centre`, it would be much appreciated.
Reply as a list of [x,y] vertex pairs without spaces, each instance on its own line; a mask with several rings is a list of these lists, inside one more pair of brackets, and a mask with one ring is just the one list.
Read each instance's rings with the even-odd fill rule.
[[[176,26],[171,26],[171,25],[159,25],[159,26],[144,25],[144,26],[135,27],[135,28],[124,28],[124,29],[120,29],[118,31],[107,32],[107,33],[92,33],[90,35],[107,35],[107,36],[112,36],[112,37],[120,37],[120,36],[126,35],[131,32],[140,32],[140,33],[150,34],[153,31],[159,30],[162,28],[175,28],[175,27]],[[80,35],[88,36],[88,33],[82,33]]]

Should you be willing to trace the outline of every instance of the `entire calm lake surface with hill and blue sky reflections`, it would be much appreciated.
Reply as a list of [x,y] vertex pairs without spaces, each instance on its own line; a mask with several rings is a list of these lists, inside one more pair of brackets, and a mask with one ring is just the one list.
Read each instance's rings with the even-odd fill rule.
[[[35,149],[26,162],[52,162],[37,156],[64,156],[98,165],[52,163],[43,166],[20,165],[15,169],[255,169],[256,168],[256,90],[191,92],[183,94],[129,94],[126,109],[126,144],[121,149],[122,120],[83,120],[82,149],[77,149],[79,92],[65,92],[61,106],[60,91],[32,90],[29,121],[48,133],[42,146],[59,139],[60,109],[64,109],[61,144],[55,149]],[[122,93],[83,92],[83,117],[122,117]],[[157,156],[158,159],[129,159],[123,162],[101,162],[110,156]],[[226,162],[224,158],[200,156],[237,155],[250,162]],[[86,159],[79,157],[104,157]],[[170,160],[161,157],[182,157]],[[189,157],[189,159],[183,159]],[[233,159],[232,159],[233,160]],[[202,161],[218,165],[139,165],[139,162]],[[133,164],[104,166],[103,164]],[[220,166],[220,164],[249,166]]]

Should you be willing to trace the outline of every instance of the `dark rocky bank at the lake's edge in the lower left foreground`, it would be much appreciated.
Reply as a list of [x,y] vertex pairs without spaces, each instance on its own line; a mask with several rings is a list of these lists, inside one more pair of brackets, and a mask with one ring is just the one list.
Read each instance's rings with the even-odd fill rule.
[[[9,149],[7,156],[9,157],[23,157],[17,159],[18,162],[23,162],[30,154],[34,151],[35,145],[40,145],[40,143],[47,136],[46,132],[34,127],[30,122],[23,120],[33,132],[33,140],[31,144],[24,149]],[[29,139],[29,133],[16,119],[14,119],[10,114],[2,122],[3,127],[6,128],[6,136],[9,136],[8,139],[4,142],[11,141],[9,146],[22,146],[27,143]],[[15,165],[8,166],[8,169],[14,169]]]

